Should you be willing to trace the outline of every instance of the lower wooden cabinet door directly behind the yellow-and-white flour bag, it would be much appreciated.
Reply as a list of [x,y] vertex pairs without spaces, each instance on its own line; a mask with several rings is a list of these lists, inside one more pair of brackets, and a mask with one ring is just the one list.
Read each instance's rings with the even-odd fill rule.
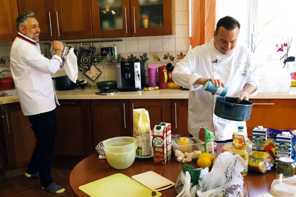
[[150,129],[161,122],[171,122],[171,99],[130,99],[129,100],[129,121],[130,135],[133,136],[134,118],[133,109],[144,108],[149,113]]

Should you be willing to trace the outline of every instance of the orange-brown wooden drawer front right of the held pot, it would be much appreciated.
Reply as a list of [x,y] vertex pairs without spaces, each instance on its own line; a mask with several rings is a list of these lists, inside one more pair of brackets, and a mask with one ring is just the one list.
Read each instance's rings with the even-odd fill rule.
[[252,136],[254,127],[279,130],[296,129],[295,99],[250,99],[254,103],[247,123],[248,136]]

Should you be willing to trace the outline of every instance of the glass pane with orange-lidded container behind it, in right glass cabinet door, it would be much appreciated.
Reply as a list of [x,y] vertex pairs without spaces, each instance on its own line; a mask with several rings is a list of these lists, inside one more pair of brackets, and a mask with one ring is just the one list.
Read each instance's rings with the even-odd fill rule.
[[139,0],[139,27],[156,28],[163,25],[162,0]]

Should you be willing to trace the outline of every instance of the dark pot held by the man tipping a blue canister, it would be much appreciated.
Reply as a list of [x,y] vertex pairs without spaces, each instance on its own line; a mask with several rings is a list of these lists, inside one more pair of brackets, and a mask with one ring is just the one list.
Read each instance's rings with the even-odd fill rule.
[[217,97],[214,114],[227,120],[249,120],[254,103],[247,100],[242,100],[241,103],[237,103],[237,99],[238,98],[234,97]]

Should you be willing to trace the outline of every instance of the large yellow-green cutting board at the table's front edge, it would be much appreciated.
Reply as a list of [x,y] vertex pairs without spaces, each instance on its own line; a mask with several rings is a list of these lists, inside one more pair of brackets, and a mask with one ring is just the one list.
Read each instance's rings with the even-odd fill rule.
[[[124,174],[117,173],[105,178],[87,183],[79,186],[82,190],[91,197],[158,197],[161,196],[160,192],[153,192],[148,187],[143,186],[138,181],[125,176]],[[156,195],[153,195],[153,193]]]

